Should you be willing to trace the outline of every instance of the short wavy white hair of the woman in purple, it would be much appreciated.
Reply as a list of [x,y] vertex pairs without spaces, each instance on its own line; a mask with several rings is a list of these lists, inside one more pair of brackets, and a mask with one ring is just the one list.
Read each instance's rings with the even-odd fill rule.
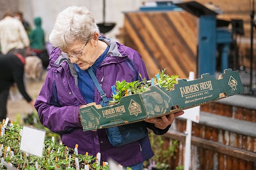
[[56,18],[49,41],[54,47],[65,49],[76,40],[87,42],[93,33],[99,33],[92,13],[87,7],[67,7]]

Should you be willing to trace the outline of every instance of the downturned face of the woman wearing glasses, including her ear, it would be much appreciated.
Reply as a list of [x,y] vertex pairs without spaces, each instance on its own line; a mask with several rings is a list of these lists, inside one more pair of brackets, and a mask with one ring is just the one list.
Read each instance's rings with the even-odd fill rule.
[[[98,55],[98,35],[93,35],[88,42],[75,41],[74,44],[63,52],[69,55],[72,63],[76,63],[82,70],[86,70],[93,65]],[[82,56],[81,56],[82,55]]]

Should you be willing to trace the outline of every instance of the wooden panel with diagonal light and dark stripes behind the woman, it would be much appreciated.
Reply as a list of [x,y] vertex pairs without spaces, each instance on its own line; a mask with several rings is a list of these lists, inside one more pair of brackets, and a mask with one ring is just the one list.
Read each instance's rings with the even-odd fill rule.
[[124,44],[141,53],[148,74],[167,68],[186,78],[196,72],[197,18],[186,12],[126,13]]

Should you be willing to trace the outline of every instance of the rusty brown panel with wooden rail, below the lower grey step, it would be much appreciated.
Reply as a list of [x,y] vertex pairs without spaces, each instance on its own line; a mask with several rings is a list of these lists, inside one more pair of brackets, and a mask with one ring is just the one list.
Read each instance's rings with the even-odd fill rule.
[[[179,141],[171,169],[184,165],[186,121],[177,120],[178,132],[167,132],[169,139]],[[191,170],[255,170],[256,138],[193,123],[191,139]]]

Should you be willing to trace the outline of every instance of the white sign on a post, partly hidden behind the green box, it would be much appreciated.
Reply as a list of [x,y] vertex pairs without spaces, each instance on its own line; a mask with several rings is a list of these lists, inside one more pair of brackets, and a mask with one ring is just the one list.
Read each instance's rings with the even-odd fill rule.
[[[194,80],[194,79],[195,79],[195,73],[193,71],[190,71],[189,80]],[[184,114],[179,117],[199,123],[199,115],[200,115],[200,106],[197,106],[194,108],[184,110]]]

